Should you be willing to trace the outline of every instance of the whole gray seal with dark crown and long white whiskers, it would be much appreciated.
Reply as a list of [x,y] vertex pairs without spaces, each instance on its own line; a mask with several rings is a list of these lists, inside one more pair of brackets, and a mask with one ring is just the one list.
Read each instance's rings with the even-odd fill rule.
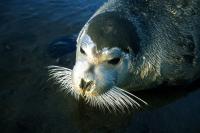
[[200,75],[199,7],[110,0],[80,31],[73,70],[49,66],[50,76],[75,98],[114,111],[147,104],[136,91],[191,84]]

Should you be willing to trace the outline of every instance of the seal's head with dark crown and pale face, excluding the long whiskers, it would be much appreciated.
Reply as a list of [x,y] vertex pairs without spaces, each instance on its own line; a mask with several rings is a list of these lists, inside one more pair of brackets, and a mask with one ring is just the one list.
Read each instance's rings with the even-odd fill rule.
[[125,96],[121,87],[131,82],[132,58],[138,52],[139,38],[129,20],[113,12],[97,15],[77,39],[74,88],[86,98],[109,92]]

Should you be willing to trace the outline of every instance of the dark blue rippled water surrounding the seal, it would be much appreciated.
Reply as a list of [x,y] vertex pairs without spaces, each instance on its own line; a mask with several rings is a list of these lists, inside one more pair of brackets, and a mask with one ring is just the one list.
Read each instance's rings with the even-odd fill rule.
[[[0,1],[0,132],[199,133],[200,91],[151,111],[114,115],[93,110],[47,82],[48,65],[72,67],[48,46],[77,35],[105,0]],[[167,98],[167,97],[166,97]]]

